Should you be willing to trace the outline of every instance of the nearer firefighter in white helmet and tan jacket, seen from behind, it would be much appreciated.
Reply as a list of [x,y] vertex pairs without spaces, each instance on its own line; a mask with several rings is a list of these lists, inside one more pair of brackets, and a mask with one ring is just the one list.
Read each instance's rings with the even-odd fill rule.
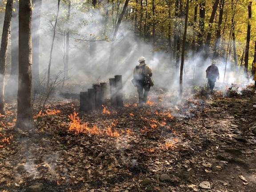
[[150,89],[148,77],[152,76],[152,69],[145,64],[144,57],[140,57],[138,61],[140,64],[134,68],[133,79],[136,81],[136,87],[139,93],[139,104],[142,104],[146,103],[148,100],[148,92]]

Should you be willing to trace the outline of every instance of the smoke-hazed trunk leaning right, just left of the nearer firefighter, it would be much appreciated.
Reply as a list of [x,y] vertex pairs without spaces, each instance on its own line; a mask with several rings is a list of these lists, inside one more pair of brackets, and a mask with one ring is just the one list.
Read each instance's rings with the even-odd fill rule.
[[[116,23],[116,28],[115,28],[115,31],[114,31],[114,34],[113,34],[113,39],[116,38],[116,34],[117,34],[117,32],[119,30],[119,27],[120,27],[120,24],[121,24],[121,22],[123,20],[124,13],[126,12],[128,3],[129,3],[129,0],[125,0],[123,10],[120,13],[118,21]],[[114,45],[113,45],[113,42],[112,42],[112,45],[111,45],[111,48],[110,48],[109,59],[108,59],[108,69],[107,69],[108,72],[110,72],[112,70],[111,65],[113,64],[113,62],[114,62]]]

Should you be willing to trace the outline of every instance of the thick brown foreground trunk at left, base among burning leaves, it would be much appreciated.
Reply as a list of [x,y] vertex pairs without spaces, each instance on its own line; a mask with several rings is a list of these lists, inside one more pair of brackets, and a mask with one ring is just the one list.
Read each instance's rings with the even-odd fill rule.
[[19,85],[16,128],[35,127],[32,116],[32,6],[30,0],[20,0],[19,9]]

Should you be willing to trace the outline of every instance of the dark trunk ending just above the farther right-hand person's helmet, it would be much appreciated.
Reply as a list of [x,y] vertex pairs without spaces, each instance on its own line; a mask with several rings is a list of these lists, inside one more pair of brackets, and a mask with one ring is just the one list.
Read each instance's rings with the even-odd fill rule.
[[220,29],[221,29],[221,25],[222,25],[222,20],[223,20],[223,10],[224,10],[224,0],[220,0],[220,15],[219,15],[219,22],[218,22],[218,28],[216,30],[216,48],[215,48],[215,52],[214,52],[214,58],[216,59],[217,57],[219,57],[220,55]]

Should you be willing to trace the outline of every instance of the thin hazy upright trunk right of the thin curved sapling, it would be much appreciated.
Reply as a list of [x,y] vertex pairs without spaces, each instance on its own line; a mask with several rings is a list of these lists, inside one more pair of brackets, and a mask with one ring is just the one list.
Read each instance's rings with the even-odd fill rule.
[[[71,9],[71,0],[68,0],[67,22],[69,21],[69,18],[70,18],[70,9]],[[64,63],[64,79],[63,79],[63,84],[64,84],[64,80],[66,78],[68,78],[68,59],[69,59],[69,29],[68,29],[67,37],[66,37],[66,53],[65,53],[65,63]]]

